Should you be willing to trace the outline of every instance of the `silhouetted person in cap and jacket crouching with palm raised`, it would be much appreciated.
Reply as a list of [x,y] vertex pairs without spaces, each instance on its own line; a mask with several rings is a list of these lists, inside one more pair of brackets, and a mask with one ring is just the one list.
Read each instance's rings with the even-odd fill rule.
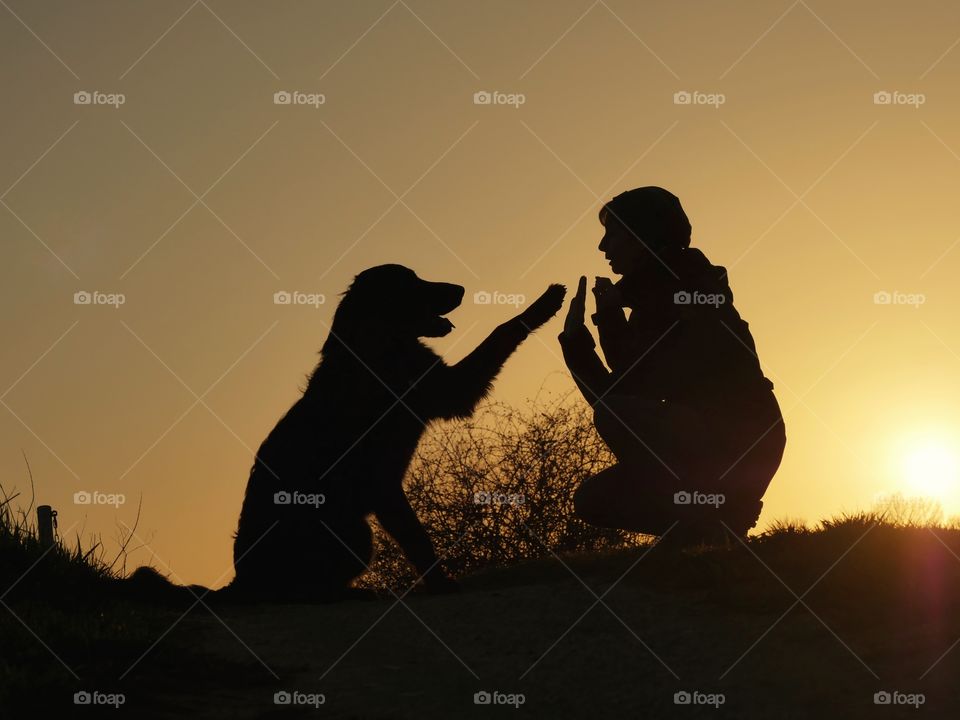
[[663,188],[617,195],[600,223],[599,249],[621,276],[593,287],[606,366],[585,324],[585,277],[559,341],[617,463],[581,484],[574,511],[683,544],[744,537],[786,433],[726,269],[690,247],[687,215]]

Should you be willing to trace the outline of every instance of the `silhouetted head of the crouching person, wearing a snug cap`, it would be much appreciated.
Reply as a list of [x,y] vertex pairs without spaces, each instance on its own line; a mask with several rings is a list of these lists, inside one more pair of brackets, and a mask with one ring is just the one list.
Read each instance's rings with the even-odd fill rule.
[[690,221],[680,200],[652,185],[608,201],[600,208],[600,224],[604,234],[599,250],[618,275],[663,267],[672,253],[690,245]]

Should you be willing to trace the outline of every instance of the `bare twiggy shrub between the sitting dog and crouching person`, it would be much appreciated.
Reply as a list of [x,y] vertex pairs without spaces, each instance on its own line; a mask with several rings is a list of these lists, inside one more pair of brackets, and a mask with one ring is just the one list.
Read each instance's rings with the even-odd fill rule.
[[[641,542],[587,525],[572,497],[615,462],[583,402],[538,396],[526,407],[484,405],[470,420],[433,426],[406,479],[407,497],[454,575],[571,551]],[[360,585],[406,589],[416,573],[375,527],[377,557]]]

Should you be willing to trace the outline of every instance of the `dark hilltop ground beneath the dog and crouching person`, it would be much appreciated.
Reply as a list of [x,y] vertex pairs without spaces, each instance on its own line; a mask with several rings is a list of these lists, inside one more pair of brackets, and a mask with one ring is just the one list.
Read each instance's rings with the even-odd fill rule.
[[[164,612],[86,658],[82,686],[126,693],[107,717],[956,717],[960,531],[861,517],[647,550],[490,570],[403,603],[198,607],[169,632],[182,612]],[[324,703],[275,705],[284,690]],[[476,705],[481,691],[523,704]],[[723,702],[677,705],[683,691]],[[878,706],[884,691],[922,705]]]

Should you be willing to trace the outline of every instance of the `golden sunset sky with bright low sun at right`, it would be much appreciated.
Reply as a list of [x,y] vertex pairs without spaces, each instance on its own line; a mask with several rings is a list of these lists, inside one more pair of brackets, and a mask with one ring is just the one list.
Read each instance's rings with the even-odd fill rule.
[[[25,452],[71,542],[115,548],[142,496],[131,563],[224,584],[353,275],[466,286],[431,342],[455,361],[514,312],[473,293],[609,275],[597,210],[651,184],[728,268],[784,411],[760,527],[892,492],[960,514],[960,6],[0,5],[0,480],[29,495]],[[560,325],[496,399],[572,388]]]

